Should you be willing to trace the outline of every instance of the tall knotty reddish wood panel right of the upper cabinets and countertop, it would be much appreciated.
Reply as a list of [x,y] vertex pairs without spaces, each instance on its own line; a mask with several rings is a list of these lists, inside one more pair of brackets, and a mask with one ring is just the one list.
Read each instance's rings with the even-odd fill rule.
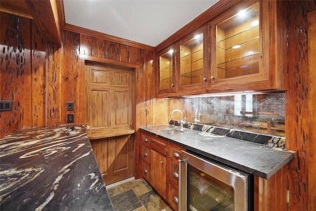
[[295,151],[288,170],[289,211],[308,210],[309,201],[307,11],[311,6],[308,3],[290,1],[287,8],[290,36],[287,39],[288,68],[285,75],[285,148]]

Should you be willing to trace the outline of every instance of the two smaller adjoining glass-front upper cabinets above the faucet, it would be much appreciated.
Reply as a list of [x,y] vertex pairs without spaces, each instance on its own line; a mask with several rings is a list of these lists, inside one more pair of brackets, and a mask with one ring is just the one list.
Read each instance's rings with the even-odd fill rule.
[[158,52],[158,95],[175,96],[207,87],[207,26]]

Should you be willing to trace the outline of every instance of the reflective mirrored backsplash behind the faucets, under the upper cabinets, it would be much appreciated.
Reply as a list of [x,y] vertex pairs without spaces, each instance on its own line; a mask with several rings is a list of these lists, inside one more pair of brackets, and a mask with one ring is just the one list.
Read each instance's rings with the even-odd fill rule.
[[181,97],[174,98],[172,104],[173,108],[182,109],[187,122],[278,136],[285,133],[284,91]]

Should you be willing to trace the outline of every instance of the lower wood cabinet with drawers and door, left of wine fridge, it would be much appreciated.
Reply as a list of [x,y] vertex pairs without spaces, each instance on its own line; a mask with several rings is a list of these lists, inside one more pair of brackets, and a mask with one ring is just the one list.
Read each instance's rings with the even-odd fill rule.
[[141,132],[142,176],[169,205],[178,210],[180,147],[168,141]]

